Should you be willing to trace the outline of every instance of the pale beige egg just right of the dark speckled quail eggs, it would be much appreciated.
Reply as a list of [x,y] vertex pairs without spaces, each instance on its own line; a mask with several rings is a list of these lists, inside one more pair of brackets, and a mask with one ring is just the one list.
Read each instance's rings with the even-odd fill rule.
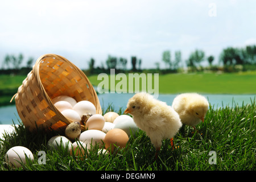
[[105,119],[101,114],[92,115],[87,121],[85,125],[85,129],[87,130],[102,130],[105,124]]

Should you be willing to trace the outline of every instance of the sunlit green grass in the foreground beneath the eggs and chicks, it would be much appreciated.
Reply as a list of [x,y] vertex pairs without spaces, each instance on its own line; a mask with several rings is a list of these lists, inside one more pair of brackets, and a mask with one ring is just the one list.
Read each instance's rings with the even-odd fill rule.
[[[113,110],[109,106],[106,111]],[[115,110],[118,111],[118,110]],[[123,110],[118,111],[119,114]],[[200,133],[192,134],[193,129],[185,126],[174,138],[178,146],[172,150],[170,140],[163,140],[163,145],[155,160],[155,148],[143,131],[131,136],[126,148],[116,154],[98,155],[97,149],[91,150],[88,157],[76,159],[67,150],[48,150],[47,141],[55,135],[29,133],[23,125],[15,127],[16,133],[5,134],[0,140],[0,171],[14,170],[5,161],[5,154],[13,146],[30,148],[34,161],[23,165],[19,170],[255,170],[255,101],[250,105],[210,109],[205,122],[197,125]],[[39,164],[39,151],[46,152],[46,164]],[[209,152],[217,154],[216,164],[209,164]]]

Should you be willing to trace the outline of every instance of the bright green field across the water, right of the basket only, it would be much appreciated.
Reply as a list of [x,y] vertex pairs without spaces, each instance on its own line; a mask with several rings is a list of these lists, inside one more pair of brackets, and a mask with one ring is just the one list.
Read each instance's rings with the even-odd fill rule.
[[[97,86],[101,82],[97,77],[94,75],[88,78]],[[127,76],[127,80],[128,78]],[[115,81],[115,84],[118,82],[119,80]],[[256,72],[167,74],[159,75],[159,93],[254,94],[255,82]],[[129,88],[128,81],[127,88]]]

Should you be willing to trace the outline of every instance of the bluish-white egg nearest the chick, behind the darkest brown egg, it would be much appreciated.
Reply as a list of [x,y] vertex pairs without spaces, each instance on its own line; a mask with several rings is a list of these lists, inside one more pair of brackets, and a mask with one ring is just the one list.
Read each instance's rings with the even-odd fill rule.
[[125,133],[130,137],[131,133],[135,135],[136,131],[139,130],[137,125],[131,119],[123,119],[123,121],[119,121],[115,126],[115,129],[121,129],[125,131]]

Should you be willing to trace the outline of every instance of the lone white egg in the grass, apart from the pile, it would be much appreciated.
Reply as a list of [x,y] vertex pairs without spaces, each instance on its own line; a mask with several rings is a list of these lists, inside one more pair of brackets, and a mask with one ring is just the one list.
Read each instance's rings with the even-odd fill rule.
[[34,156],[30,150],[26,147],[16,146],[10,148],[5,155],[5,162],[13,167],[20,167],[21,164],[26,164],[26,156],[30,158],[32,161],[34,160]]

